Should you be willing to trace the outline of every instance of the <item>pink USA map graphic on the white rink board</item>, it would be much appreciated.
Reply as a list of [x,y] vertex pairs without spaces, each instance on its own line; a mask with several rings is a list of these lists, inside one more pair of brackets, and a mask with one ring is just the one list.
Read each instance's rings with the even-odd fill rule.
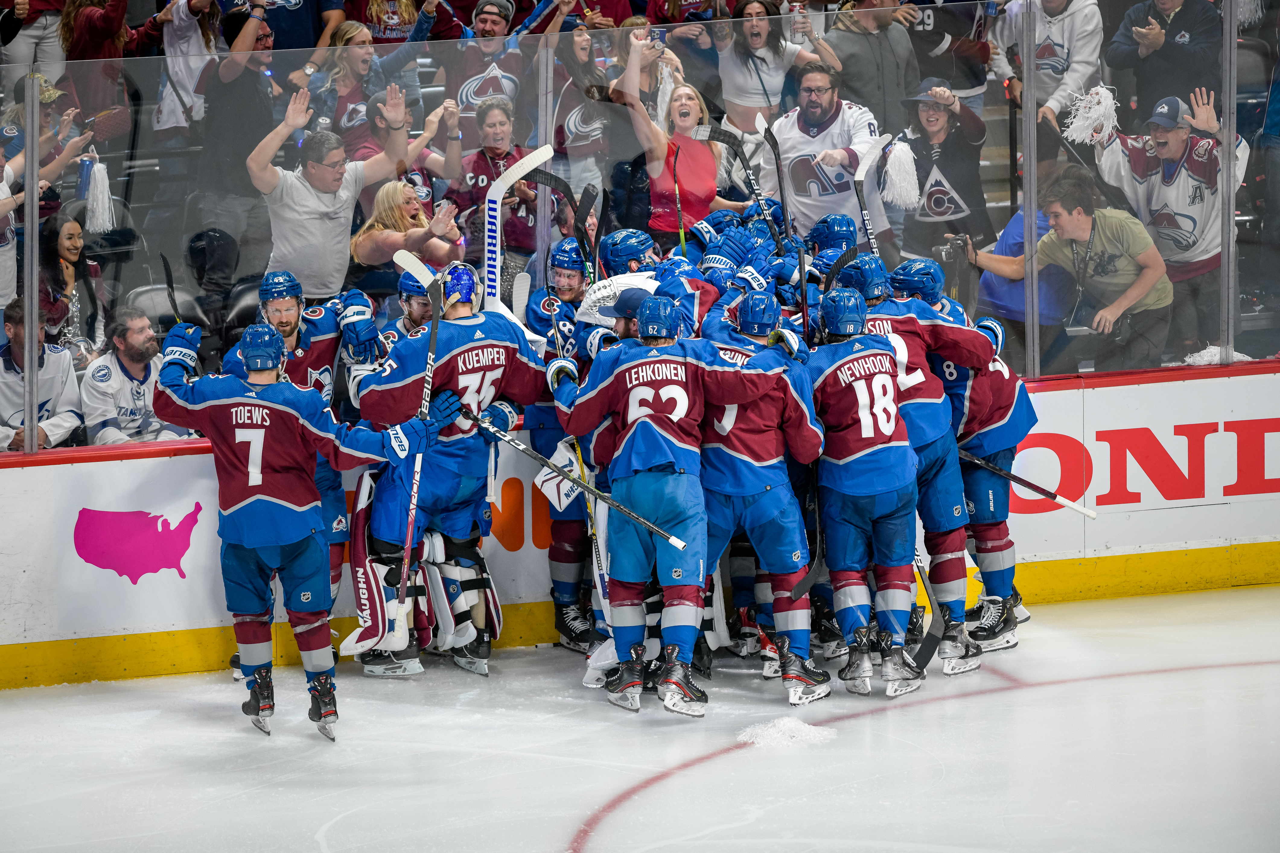
[[177,527],[164,515],[146,512],[111,513],[82,509],[76,518],[76,554],[90,565],[115,572],[133,586],[143,574],[175,569],[179,578],[182,558],[191,547],[191,532],[200,519],[200,504]]

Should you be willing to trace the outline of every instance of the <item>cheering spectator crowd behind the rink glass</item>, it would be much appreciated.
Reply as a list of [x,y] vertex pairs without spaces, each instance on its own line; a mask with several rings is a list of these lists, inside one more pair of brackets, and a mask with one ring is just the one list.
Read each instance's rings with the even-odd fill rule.
[[[38,370],[41,446],[187,435],[151,411],[155,334],[174,322],[166,275],[183,320],[209,333],[206,370],[253,322],[269,272],[292,272],[307,306],[360,289],[392,326],[406,312],[394,253],[480,267],[489,187],[543,143],[556,187],[526,175],[502,202],[508,307],[515,274],[534,289],[554,279],[552,248],[575,234],[570,202],[589,185],[590,240],[639,229],[694,274],[708,242],[698,226],[719,211],[767,217],[786,235],[782,212],[755,203],[762,185],[785,194],[801,240],[829,214],[851,217],[856,243],[876,238],[892,261],[950,258],[941,249],[959,235],[964,251],[947,267],[957,298],[973,280],[965,307],[1005,324],[1019,368],[1025,324],[1038,322],[1042,373],[1160,367],[1217,347],[1222,312],[1236,309],[1219,298],[1221,211],[1247,175],[1274,201],[1262,229],[1280,244],[1280,180],[1263,180],[1280,162],[1280,97],[1263,96],[1257,127],[1242,114],[1242,134],[1224,137],[1221,10],[1210,0],[8,3],[0,446],[13,450],[28,370]],[[1272,58],[1277,5],[1263,4],[1268,23],[1249,37]],[[1027,14],[1034,45],[1020,43]],[[991,165],[1018,156],[992,125],[1018,123],[1007,104],[1024,106],[1028,56],[1036,318],[1020,281],[1024,210]],[[28,134],[32,63],[41,127]],[[1092,145],[1064,139],[1073,104],[1098,84],[1120,93],[1117,125]],[[705,141],[700,125],[737,146]],[[763,125],[782,142],[780,160]],[[881,197],[881,164],[864,219],[851,184],[881,134],[914,157],[919,203]],[[803,148],[804,137],[823,148]],[[31,138],[33,288],[23,280]],[[1226,145],[1230,176],[1219,165]],[[23,327],[24,299],[38,301],[36,330]],[[38,366],[24,363],[27,335],[42,341]],[[339,381],[339,417],[343,393]]]

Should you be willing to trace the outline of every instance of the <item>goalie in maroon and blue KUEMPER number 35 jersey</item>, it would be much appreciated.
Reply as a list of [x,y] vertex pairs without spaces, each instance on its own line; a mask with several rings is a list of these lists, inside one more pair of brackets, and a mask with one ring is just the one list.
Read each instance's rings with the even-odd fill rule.
[[[530,405],[543,391],[541,358],[520,326],[495,312],[475,312],[479,292],[475,269],[454,262],[442,275],[448,307],[436,341],[433,394],[456,395],[474,414],[511,430],[518,417],[512,403]],[[396,344],[381,370],[365,366],[362,371],[352,371],[352,400],[362,417],[375,425],[397,423],[417,412],[429,345],[430,335],[411,335]],[[452,648],[453,662],[477,675],[489,673],[490,634],[500,627],[497,622],[500,613],[486,606],[495,607],[497,600],[476,547],[492,523],[485,486],[493,441],[488,432],[461,417],[443,426],[431,453],[431,471],[422,472],[413,520],[415,545],[426,529],[443,535],[445,560],[440,573],[453,581],[445,590],[460,643]],[[388,567],[388,579],[398,581],[406,569],[402,563],[411,478],[411,471],[393,468],[374,494],[369,533],[372,556]]]

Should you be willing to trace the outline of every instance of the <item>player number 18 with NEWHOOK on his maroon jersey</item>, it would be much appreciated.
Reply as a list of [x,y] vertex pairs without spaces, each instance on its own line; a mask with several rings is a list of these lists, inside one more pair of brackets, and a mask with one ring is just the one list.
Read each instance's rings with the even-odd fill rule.
[[[918,459],[901,417],[895,344],[869,334],[867,303],[836,288],[822,301],[823,345],[809,357],[814,407],[827,430],[818,495],[836,620],[849,643],[845,689],[870,693],[872,652],[881,653],[888,698],[919,689],[905,655],[911,614]],[[867,569],[876,564],[876,620]]]

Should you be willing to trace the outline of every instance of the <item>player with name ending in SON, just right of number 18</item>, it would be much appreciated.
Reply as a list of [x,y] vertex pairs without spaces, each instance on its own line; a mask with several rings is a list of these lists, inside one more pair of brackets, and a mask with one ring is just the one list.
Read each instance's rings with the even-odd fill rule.
[[[951,431],[951,405],[942,381],[929,371],[927,356],[934,352],[956,364],[984,367],[996,354],[993,341],[998,324],[989,321],[969,329],[933,309],[931,306],[941,299],[943,284],[942,269],[936,261],[906,261],[886,281],[878,258],[867,254],[859,258],[860,263],[845,270],[850,271],[849,280],[864,299],[878,301],[867,309],[867,331],[883,335],[893,345],[899,408],[911,448],[919,457],[916,510],[924,526],[924,549],[929,554],[929,582],[946,620],[938,656],[943,674],[956,675],[977,669],[982,650],[964,629],[969,577],[964,561],[964,528],[969,513]],[[890,284],[904,298],[887,298]],[[913,299],[913,295],[920,298]]]

